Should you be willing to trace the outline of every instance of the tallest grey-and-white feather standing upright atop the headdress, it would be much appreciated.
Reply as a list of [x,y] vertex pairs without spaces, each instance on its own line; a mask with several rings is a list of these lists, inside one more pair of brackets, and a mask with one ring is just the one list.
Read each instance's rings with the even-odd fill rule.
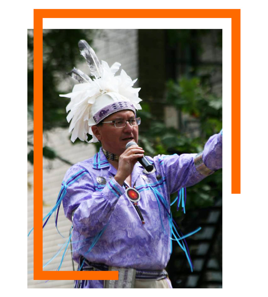
[[91,71],[91,75],[94,75],[95,78],[102,77],[102,64],[99,62],[98,57],[96,56],[94,50],[89,46],[85,40],[80,40],[78,42],[78,47],[80,49],[81,55],[85,58],[88,67]]

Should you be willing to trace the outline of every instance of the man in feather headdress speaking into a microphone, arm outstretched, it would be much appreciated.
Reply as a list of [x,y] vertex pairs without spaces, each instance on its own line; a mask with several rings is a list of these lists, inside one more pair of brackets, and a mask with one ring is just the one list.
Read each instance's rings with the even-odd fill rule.
[[[118,270],[118,281],[75,281],[77,288],[171,288],[166,267],[177,241],[191,260],[187,245],[170,213],[170,194],[196,184],[222,167],[222,132],[212,136],[200,154],[147,157],[153,170],[138,162],[144,150],[138,145],[135,110],[141,106],[135,81],[120,64],[100,63],[89,45],[79,42],[91,80],[78,69],[70,75],[80,84],[66,95],[71,140],[100,141],[96,155],[72,166],[64,177],[57,205],[62,201],[73,222],[73,259],[79,270]],[[184,200],[182,199],[182,205]],[[184,207],[184,205],[183,205]],[[56,209],[56,208],[55,208]],[[192,267],[191,267],[192,269]]]

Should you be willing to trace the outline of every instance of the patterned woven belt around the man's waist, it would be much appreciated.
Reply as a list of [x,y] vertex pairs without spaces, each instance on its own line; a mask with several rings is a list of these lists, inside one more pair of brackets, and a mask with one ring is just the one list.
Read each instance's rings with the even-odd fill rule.
[[[82,268],[80,269],[80,267]],[[139,270],[133,268],[107,266],[102,263],[92,263],[84,257],[80,257],[79,269],[81,271],[118,271],[118,280],[105,280],[105,288],[131,288],[135,279],[138,280],[158,280],[168,276],[166,270]],[[80,281],[79,281],[80,282]],[[79,285],[79,284],[77,284]]]

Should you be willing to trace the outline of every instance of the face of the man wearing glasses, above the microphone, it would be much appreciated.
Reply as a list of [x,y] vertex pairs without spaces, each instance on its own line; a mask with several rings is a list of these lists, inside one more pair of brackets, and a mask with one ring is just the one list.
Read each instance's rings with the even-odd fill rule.
[[[135,119],[133,111],[122,110],[105,118],[104,122],[130,119]],[[96,128],[93,130],[94,134],[101,141],[102,147],[110,153],[121,155],[129,141],[138,143],[138,126],[131,126],[129,122],[124,128],[116,128],[114,123],[104,123]]]

